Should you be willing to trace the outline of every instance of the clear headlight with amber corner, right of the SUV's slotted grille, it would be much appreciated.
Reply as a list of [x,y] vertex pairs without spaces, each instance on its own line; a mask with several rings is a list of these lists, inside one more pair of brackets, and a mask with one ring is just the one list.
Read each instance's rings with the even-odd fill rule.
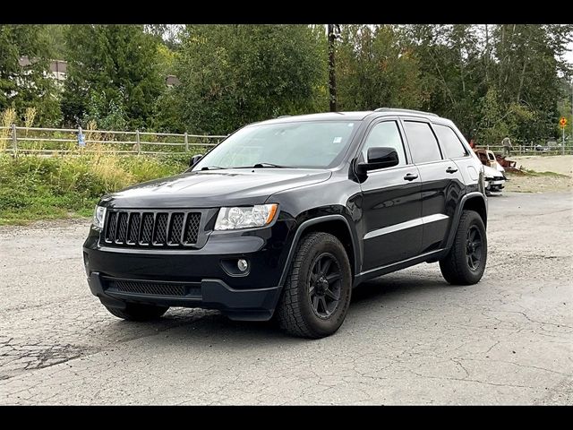
[[257,204],[249,207],[221,208],[218,211],[216,230],[263,227],[269,224],[277,213],[278,204]]

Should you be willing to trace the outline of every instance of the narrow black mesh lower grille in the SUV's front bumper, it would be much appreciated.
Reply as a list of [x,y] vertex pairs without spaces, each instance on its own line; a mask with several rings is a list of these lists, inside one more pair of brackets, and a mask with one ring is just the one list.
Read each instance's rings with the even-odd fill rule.
[[106,280],[107,293],[147,294],[150,296],[201,296],[200,283],[155,282],[146,280]]

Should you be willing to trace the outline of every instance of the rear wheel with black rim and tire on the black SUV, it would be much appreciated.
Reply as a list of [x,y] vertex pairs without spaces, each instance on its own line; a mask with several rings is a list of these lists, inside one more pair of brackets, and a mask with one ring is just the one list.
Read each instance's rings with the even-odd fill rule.
[[[468,235],[475,240],[470,240]],[[477,242],[479,244],[475,245]],[[487,236],[483,219],[475,211],[463,211],[454,243],[446,257],[440,260],[441,274],[450,284],[473,285],[482,279],[486,262]]]

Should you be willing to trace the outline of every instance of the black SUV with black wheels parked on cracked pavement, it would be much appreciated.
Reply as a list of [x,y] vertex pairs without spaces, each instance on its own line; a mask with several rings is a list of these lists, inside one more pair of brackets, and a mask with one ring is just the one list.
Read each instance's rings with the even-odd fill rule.
[[486,221],[482,164],[448,119],[286,116],[244,126],[181,175],[103,197],[83,258],[120,318],[204,307],[320,338],[364,280],[440,262],[450,283],[478,282]]

